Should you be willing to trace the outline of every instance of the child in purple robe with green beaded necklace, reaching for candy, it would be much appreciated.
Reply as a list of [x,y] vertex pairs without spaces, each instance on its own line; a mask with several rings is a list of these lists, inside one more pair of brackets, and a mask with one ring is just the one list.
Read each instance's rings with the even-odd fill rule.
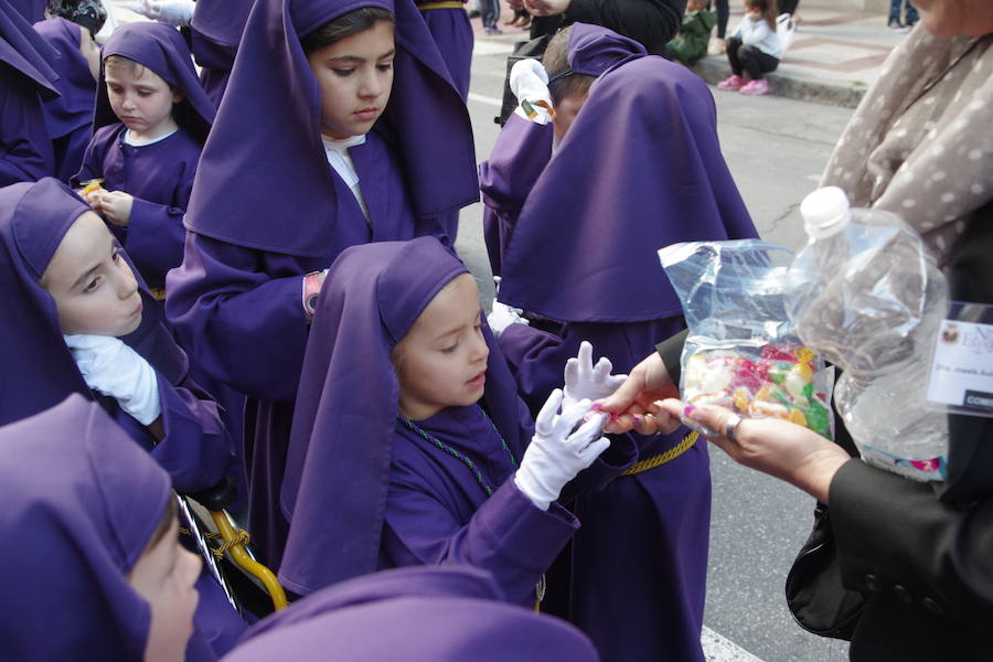
[[600,487],[633,447],[596,461],[604,418],[572,433],[591,404],[563,405],[562,391],[532,425],[476,281],[437,239],[355,246],[332,274],[282,481],[280,580],[310,594],[377,569],[467,564],[492,573],[508,601],[534,605],[579,524],[557,503],[563,488]]

